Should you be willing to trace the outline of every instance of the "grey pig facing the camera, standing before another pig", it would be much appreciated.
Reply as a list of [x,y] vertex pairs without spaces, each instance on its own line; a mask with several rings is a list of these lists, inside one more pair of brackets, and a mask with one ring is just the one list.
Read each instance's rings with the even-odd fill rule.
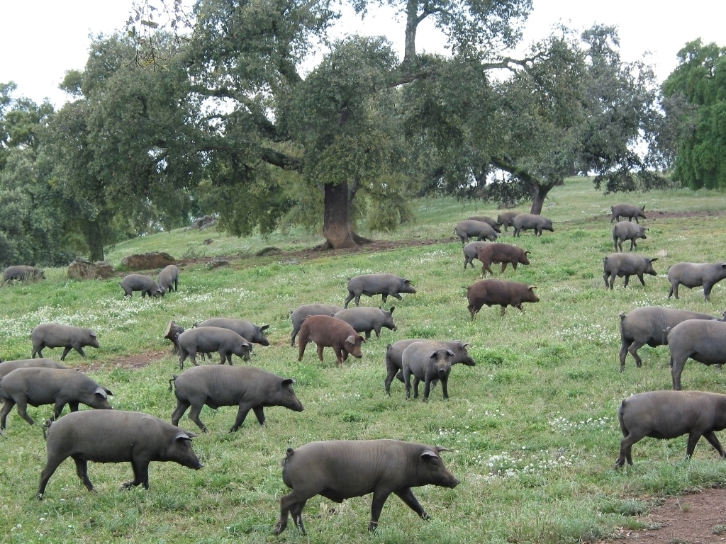
[[415,377],[413,397],[418,398],[418,384],[423,380],[423,402],[428,400],[431,392],[431,381],[441,381],[444,398],[449,398],[449,373],[452,371],[454,352],[446,347],[439,347],[439,342],[413,342],[401,355],[403,363],[406,398],[411,397],[411,375]]

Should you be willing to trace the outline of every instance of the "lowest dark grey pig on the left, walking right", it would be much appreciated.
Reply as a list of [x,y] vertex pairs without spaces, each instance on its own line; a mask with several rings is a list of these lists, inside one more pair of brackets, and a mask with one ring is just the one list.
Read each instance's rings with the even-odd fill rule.
[[131,462],[134,479],[121,489],[143,485],[149,489],[149,463],[174,461],[189,469],[203,467],[192,450],[197,436],[147,413],[84,410],[69,413],[48,429],[48,461],[41,471],[38,499],[43,498],[48,480],[60,463],[69,457],[76,462],[76,474],[89,491],[94,487],[88,476],[88,462]]

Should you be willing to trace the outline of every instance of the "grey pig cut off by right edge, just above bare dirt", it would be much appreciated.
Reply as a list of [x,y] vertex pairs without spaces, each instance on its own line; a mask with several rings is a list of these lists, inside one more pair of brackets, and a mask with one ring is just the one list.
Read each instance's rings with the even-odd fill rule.
[[632,445],[645,437],[668,439],[688,434],[686,459],[693,456],[698,439],[705,437],[719,456],[726,458],[726,452],[715,434],[726,429],[726,395],[703,391],[638,393],[620,404],[618,421],[623,440],[616,469],[626,461],[632,465]]

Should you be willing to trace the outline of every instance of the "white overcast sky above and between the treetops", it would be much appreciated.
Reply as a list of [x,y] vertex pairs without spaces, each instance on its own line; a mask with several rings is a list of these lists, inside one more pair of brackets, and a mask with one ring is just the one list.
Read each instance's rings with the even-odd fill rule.
[[[90,35],[122,29],[129,17],[131,0],[0,0],[0,82],[15,81],[15,96],[35,102],[49,98],[57,106],[67,96],[57,86],[66,70],[86,64]],[[366,33],[386,33],[390,13],[360,27]],[[635,60],[650,51],[648,62],[662,81],[677,66],[677,51],[688,41],[701,38],[726,46],[726,1],[691,0],[534,0],[526,25],[525,41],[550,33],[558,21],[583,30],[595,23],[619,28],[621,56]],[[388,26],[391,26],[390,24]],[[388,38],[402,55],[401,25]],[[431,36],[431,35],[429,35]],[[439,43],[417,35],[419,50],[433,51]]]

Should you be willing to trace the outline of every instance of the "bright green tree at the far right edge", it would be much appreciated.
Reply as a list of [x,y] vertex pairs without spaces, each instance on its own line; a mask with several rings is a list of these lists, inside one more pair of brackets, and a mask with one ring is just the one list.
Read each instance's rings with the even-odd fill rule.
[[726,189],[726,48],[691,41],[662,86],[673,178],[692,189]]

